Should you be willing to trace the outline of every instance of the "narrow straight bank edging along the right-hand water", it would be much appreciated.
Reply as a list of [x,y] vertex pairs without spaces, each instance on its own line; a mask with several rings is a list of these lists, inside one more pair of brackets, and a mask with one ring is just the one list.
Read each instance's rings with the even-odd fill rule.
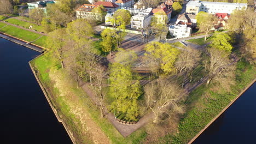
[[244,88],[243,91],[240,92],[240,93],[237,95],[237,97],[234,98],[227,106],[225,106],[224,109],[223,109],[222,111],[220,111],[219,114],[218,114],[216,117],[214,117],[214,118],[205,126],[205,128],[203,128],[195,137],[193,137],[193,139],[191,139],[191,140],[188,142],[188,144],[193,143],[193,142],[197,139],[197,137],[199,137],[199,136],[203,133],[203,131],[205,131],[213,122],[215,122],[216,119],[217,119],[220,115],[222,115],[226,110],[228,110],[229,107],[230,107],[233,103],[235,103],[235,101],[236,101],[238,98],[240,98],[241,95],[242,95],[243,93],[245,93],[245,92],[247,91],[247,89],[248,89],[249,87],[251,87],[255,81],[256,81],[256,79],[254,79],[251,83],[249,83],[249,85],[248,85],[246,88]]

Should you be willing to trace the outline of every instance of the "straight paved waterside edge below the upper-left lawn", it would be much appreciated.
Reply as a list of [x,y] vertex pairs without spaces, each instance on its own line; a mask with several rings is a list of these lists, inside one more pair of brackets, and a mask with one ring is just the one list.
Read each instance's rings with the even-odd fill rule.
[[34,50],[34,51],[37,51],[37,52],[40,52],[40,53],[43,53],[44,50],[48,50],[48,49],[45,49],[44,47],[36,45],[36,44],[27,44],[27,43],[30,43],[30,42],[26,41],[26,40],[16,38],[16,37],[13,37],[12,35],[9,35],[9,34],[3,33],[3,32],[0,32],[0,37],[3,38],[3,39],[9,40],[13,43],[25,46],[28,49],[31,49],[31,50]]

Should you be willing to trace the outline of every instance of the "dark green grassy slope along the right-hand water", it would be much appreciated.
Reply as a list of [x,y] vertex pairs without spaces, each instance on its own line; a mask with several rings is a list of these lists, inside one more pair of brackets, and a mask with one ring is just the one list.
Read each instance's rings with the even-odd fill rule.
[[230,91],[219,87],[216,91],[214,85],[202,85],[191,92],[185,102],[190,108],[178,125],[178,133],[160,139],[164,143],[188,143],[255,79],[255,65],[240,61],[237,63],[235,74],[235,83],[230,86]]

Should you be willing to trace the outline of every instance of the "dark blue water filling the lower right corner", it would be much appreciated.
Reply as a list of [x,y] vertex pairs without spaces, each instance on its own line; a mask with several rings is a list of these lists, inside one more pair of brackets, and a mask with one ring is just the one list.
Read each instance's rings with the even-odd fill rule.
[[256,83],[193,142],[256,143]]

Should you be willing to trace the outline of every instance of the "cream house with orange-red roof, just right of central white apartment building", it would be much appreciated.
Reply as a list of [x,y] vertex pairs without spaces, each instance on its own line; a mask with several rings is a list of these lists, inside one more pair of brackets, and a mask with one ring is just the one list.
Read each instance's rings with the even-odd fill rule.
[[157,23],[168,23],[171,20],[172,14],[172,1],[166,1],[161,5],[158,5],[157,8],[153,9],[153,14]]

